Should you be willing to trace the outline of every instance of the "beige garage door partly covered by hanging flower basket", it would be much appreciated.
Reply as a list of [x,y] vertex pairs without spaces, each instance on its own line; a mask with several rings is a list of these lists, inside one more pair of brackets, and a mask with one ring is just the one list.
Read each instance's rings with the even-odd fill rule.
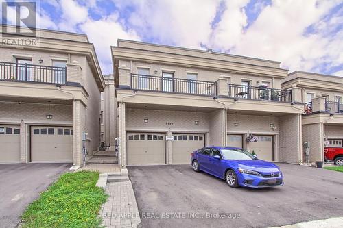
[[250,142],[250,152],[254,151],[261,160],[273,160],[273,136],[257,136],[257,142]]

